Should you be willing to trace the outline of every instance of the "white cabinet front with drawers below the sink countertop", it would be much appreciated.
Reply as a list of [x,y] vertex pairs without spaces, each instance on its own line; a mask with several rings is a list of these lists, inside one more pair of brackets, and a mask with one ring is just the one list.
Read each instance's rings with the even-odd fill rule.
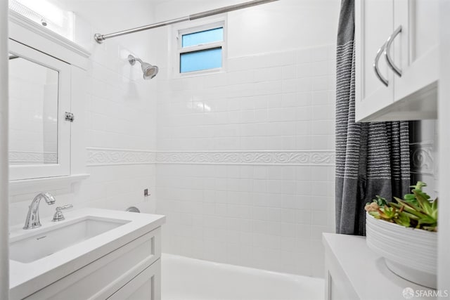
[[25,299],[159,300],[160,235],[156,228]]

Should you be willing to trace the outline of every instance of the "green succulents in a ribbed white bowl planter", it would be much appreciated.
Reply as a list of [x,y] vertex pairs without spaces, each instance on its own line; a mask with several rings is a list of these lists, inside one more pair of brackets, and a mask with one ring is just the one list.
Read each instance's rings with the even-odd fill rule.
[[437,199],[412,185],[411,194],[395,202],[376,196],[366,204],[366,242],[401,278],[436,288]]

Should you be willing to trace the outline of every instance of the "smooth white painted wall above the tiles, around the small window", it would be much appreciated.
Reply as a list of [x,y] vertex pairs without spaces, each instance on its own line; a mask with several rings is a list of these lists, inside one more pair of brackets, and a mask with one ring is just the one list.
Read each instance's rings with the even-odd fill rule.
[[[157,1],[155,21],[171,20],[242,2],[241,0]],[[229,57],[334,43],[339,8],[338,0],[281,0],[228,13]],[[165,46],[165,43],[160,46]]]

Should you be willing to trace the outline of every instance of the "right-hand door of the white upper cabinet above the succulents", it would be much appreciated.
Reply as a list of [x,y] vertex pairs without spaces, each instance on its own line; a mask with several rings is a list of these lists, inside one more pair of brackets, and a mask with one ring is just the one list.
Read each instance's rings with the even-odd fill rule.
[[401,77],[395,75],[398,80],[395,81],[394,100],[409,97],[408,102],[413,103],[414,98],[418,98],[423,105],[418,117],[435,118],[439,77],[439,1],[396,0],[394,12],[394,29],[401,26],[401,32],[394,39],[394,46],[397,46],[395,43],[399,45],[394,49],[394,63],[401,70]]

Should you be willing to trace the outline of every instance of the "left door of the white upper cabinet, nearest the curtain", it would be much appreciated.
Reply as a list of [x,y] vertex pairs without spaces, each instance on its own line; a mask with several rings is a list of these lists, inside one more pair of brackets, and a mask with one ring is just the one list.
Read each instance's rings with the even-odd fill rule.
[[378,49],[383,47],[394,29],[394,0],[355,1],[355,25],[355,119],[364,121],[373,112],[394,101],[394,74],[384,55],[378,60],[378,70],[381,76],[387,79],[387,86],[378,79],[373,69]]

